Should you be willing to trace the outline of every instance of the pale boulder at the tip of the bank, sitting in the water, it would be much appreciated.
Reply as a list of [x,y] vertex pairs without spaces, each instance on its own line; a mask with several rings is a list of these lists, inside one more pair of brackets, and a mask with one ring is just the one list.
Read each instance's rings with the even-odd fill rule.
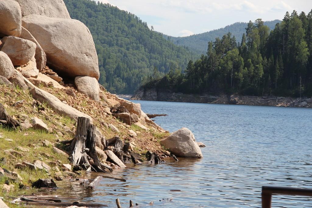
[[188,128],[181,128],[160,141],[177,157],[202,158],[202,151],[198,147],[194,134]]

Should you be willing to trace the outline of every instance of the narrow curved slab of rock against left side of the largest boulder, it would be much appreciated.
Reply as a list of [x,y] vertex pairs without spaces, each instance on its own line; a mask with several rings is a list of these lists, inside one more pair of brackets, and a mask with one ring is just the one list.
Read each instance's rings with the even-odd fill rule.
[[39,71],[42,71],[44,67],[46,66],[46,53],[43,51],[43,49],[41,48],[37,40],[34,38],[34,36],[32,36],[32,34],[30,34],[30,32],[26,30],[24,27],[22,27],[20,38],[36,43],[37,45],[36,52],[35,52],[36,65],[37,65],[37,69]]

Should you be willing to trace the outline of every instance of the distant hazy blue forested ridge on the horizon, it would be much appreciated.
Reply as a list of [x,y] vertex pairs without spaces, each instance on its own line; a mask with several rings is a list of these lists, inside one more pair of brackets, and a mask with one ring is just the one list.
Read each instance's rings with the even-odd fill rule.
[[[266,21],[264,25],[268,26],[270,30],[273,30],[276,23],[280,23],[280,20]],[[163,35],[166,39],[171,40],[174,44],[178,46],[187,46],[191,50],[196,51],[198,53],[206,53],[207,51],[207,43],[210,41],[215,41],[215,39],[222,38],[224,34],[231,32],[233,36],[236,37],[237,41],[241,41],[240,38],[245,32],[245,28],[247,27],[247,22],[236,22],[232,25],[228,25],[226,27],[212,30],[209,32],[204,32],[197,35],[187,36],[187,37],[173,37]]]

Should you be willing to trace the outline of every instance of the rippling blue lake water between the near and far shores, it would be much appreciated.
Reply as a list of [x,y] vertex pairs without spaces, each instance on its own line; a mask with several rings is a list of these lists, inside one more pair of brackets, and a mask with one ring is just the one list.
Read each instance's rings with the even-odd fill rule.
[[[67,183],[58,193],[110,207],[116,198],[123,207],[261,207],[263,185],[312,188],[312,109],[134,102],[168,114],[156,123],[170,132],[192,130],[204,158],[114,171],[127,182],[103,178],[93,191]],[[312,207],[312,197],[273,196],[272,207]]]

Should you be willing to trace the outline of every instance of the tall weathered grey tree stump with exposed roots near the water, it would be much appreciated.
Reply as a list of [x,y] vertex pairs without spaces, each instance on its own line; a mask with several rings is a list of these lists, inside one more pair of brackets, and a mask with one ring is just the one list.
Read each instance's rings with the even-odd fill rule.
[[[73,151],[70,159],[75,170],[84,169],[87,173],[91,170],[95,172],[106,172],[105,168],[110,167],[100,162],[95,151],[95,126],[90,123],[90,119],[79,117],[75,138],[71,142]],[[89,159],[92,159],[90,164]]]

